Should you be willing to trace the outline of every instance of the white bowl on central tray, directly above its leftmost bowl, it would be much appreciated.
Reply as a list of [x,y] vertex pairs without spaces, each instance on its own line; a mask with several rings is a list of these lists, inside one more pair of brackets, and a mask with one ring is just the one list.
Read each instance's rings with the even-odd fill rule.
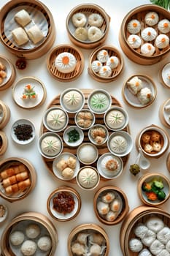
[[[53,111],[53,110],[60,110],[62,111],[62,117],[61,118],[65,118],[65,121],[63,121],[63,125],[59,126],[56,124],[55,126],[52,126],[50,124],[48,124],[47,122],[47,116],[48,114]],[[57,122],[57,121],[56,121]],[[65,129],[67,127],[67,124],[69,123],[69,116],[68,114],[66,113],[66,111],[64,111],[63,109],[61,108],[58,108],[58,107],[51,107],[51,108],[48,108],[46,111],[45,111],[45,115],[43,116],[43,124],[45,124],[45,127],[51,131],[51,132],[61,132],[63,129]]]

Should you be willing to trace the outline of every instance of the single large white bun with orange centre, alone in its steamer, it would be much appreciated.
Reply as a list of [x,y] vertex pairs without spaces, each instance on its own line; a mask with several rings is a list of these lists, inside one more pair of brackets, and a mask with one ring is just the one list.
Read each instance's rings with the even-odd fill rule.
[[62,73],[70,73],[74,71],[77,61],[75,56],[69,52],[63,52],[58,54],[55,59],[55,66],[58,71]]

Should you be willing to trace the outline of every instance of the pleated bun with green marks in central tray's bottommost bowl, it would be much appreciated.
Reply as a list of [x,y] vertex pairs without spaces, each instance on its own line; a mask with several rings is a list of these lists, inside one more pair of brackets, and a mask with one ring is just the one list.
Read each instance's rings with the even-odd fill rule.
[[98,174],[91,167],[83,167],[77,178],[80,185],[85,189],[92,189],[98,183]]

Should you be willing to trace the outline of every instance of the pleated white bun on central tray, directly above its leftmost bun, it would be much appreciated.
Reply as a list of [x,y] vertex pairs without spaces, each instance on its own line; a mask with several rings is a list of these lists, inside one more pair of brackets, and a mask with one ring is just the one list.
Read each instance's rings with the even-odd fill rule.
[[53,109],[47,113],[47,125],[51,129],[63,129],[66,125],[66,113],[62,109]]

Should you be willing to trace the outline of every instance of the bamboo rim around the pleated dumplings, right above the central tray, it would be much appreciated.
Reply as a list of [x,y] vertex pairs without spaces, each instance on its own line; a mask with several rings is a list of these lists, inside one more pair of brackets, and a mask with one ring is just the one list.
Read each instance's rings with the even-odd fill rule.
[[[133,105],[133,104],[131,104],[131,102],[129,102],[128,99],[126,99],[126,97],[125,97],[125,88],[126,88],[126,86],[127,86],[127,82],[128,82],[128,80],[131,80],[131,78],[134,78],[134,76],[139,77],[139,79],[146,79],[146,80],[149,80],[150,83],[152,83],[152,86],[153,86],[153,89],[154,89],[154,92],[155,92],[154,95],[153,95],[153,97],[152,97],[152,100],[151,100],[150,102],[148,102],[146,105],[142,105],[142,104],[141,104],[139,107],[138,107],[138,106],[135,106],[135,105]],[[148,75],[136,74],[136,75],[131,75],[131,77],[128,78],[128,80],[125,81],[125,83],[123,84],[123,88],[122,88],[123,100],[124,100],[124,102],[125,102],[127,105],[131,106],[132,108],[136,108],[136,109],[137,109],[137,108],[147,108],[149,105],[152,104],[152,102],[154,102],[155,97],[156,97],[156,95],[157,95],[157,87],[156,87],[156,85],[155,85],[155,82],[152,80],[152,78],[150,78]],[[136,97],[135,95],[132,95],[132,96]]]

